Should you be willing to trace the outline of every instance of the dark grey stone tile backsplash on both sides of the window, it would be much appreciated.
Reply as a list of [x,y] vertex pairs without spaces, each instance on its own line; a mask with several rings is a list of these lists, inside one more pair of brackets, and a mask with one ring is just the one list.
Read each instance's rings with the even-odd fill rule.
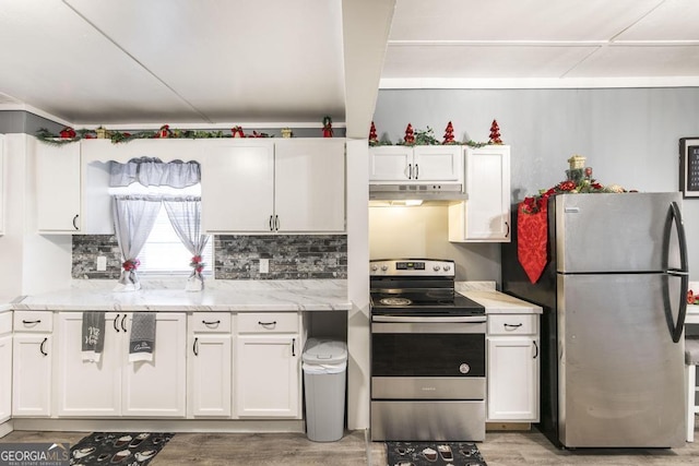
[[[118,279],[121,254],[114,235],[73,236],[72,277]],[[107,271],[97,272],[97,256],[107,258]],[[270,260],[260,274],[259,260]],[[214,236],[216,279],[347,278],[346,235]]]

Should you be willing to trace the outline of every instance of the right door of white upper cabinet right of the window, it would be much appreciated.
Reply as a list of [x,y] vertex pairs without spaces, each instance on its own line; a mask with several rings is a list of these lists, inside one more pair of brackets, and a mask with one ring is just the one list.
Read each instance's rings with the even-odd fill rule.
[[274,148],[279,231],[344,231],[344,140],[281,141]]

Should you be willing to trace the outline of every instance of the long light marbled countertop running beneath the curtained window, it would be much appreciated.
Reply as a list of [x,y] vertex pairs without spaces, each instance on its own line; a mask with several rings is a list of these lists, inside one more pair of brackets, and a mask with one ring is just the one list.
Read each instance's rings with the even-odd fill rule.
[[[97,282],[97,280],[90,280]],[[206,283],[202,291],[146,287],[114,291],[115,282],[80,284],[27,296],[16,311],[346,311],[346,280],[239,280]]]

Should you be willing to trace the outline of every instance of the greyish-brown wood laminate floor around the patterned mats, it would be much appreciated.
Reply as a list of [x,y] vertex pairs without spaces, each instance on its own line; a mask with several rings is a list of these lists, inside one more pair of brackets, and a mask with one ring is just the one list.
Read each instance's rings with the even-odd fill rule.
[[[14,431],[0,442],[68,442],[84,432]],[[533,429],[526,432],[487,432],[477,443],[488,466],[638,466],[699,465],[697,442],[680,449],[559,450]],[[383,443],[370,442],[365,431],[346,432],[339,442],[309,441],[301,433],[177,433],[151,462],[152,466],[386,466]],[[390,465],[393,466],[393,465]]]

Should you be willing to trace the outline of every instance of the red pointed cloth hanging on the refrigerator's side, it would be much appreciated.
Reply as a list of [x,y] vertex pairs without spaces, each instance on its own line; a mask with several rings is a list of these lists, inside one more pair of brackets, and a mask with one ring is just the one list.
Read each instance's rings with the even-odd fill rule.
[[547,204],[535,213],[524,212],[525,204],[517,207],[517,258],[531,283],[536,283],[546,267],[548,246]]

